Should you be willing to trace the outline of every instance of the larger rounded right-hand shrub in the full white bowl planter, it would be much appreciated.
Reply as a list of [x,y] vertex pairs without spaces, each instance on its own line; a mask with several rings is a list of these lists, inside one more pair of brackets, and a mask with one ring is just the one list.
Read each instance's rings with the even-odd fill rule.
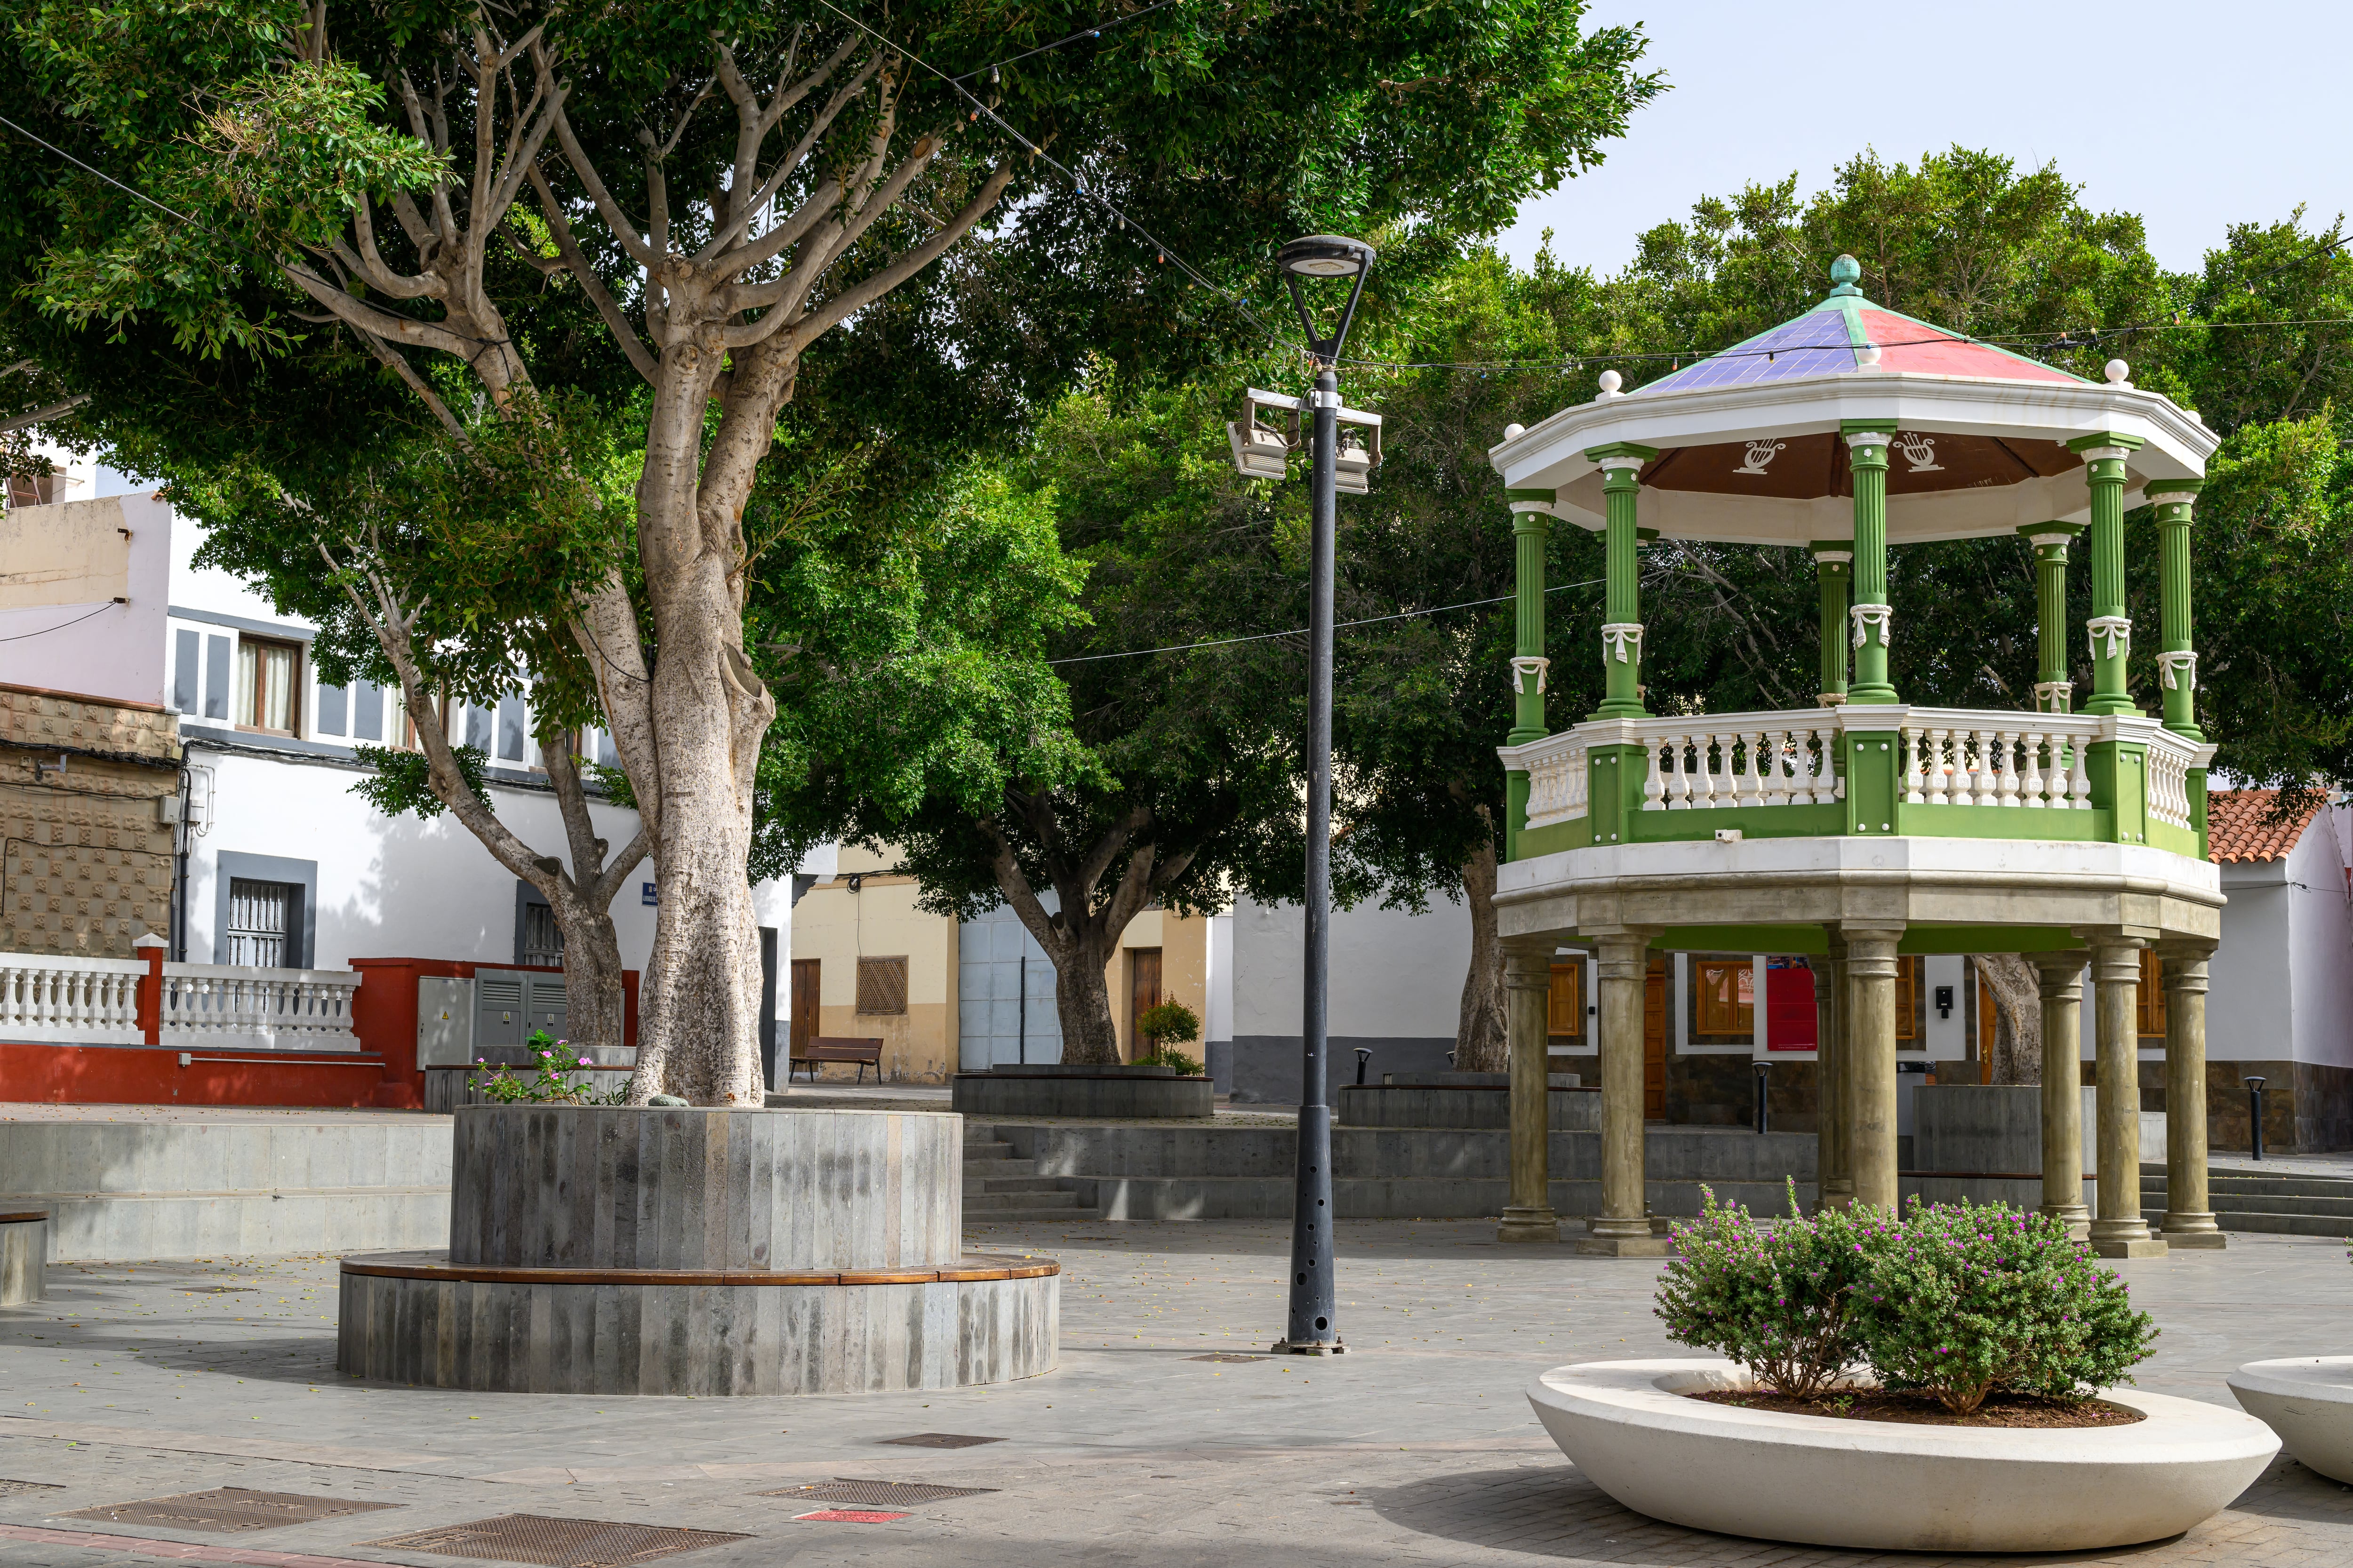
[[2158,1338],[2125,1284],[2052,1215],[1913,1199],[1868,1255],[1864,1359],[1882,1387],[1934,1394],[1955,1415],[2000,1392],[2085,1399],[2129,1382]]

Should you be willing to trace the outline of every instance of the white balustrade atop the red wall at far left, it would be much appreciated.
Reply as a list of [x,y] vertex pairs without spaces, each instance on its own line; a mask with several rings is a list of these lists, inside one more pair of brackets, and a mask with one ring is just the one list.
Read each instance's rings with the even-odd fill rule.
[[[141,959],[0,952],[0,1039],[52,1046],[136,1046]],[[348,969],[162,966],[165,1046],[221,1051],[358,1051]]]

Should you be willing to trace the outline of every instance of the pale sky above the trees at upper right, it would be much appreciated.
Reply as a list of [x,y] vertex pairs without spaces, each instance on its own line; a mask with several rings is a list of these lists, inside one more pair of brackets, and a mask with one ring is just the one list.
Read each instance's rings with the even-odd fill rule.
[[2325,230],[2353,212],[2353,0],[1588,7],[1593,26],[1633,21],[1671,92],[1600,169],[1520,207],[1501,237],[1520,263],[1551,228],[1560,261],[1614,273],[1638,233],[1701,195],[1793,172],[1809,195],[1866,146],[1904,162],[1953,143],[2057,160],[2085,205],[2139,212],[2172,270],[2200,266],[2228,223],[2304,202]]

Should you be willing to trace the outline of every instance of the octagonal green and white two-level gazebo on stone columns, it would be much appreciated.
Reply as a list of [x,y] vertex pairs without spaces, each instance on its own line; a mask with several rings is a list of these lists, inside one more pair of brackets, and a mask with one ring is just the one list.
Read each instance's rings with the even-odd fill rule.
[[[2097,994],[2097,1215],[2085,1211],[2073,1070],[2042,1072],[2042,1208],[2106,1258],[2221,1246],[2207,1213],[2205,987],[2221,912],[2205,858],[2205,769],[2191,693],[2191,508],[2217,437],[2134,388],[2092,383],[1868,301],[1840,256],[1805,315],[1635,393],[1600,395],[1489,451],[1518,538],[1515,726],[1506,865],[1513,1204],[1506,1239],[1558,1239],[1546,1197],[1546,987],[1558,947],[1598,957],[1602,1213],[1581,1251],[1654,1255],[1642,1185],[1642,985],[1654,950],[1817,954],[1819,1182],[1826,1204],[1897,1206],[1901,954],[2026,952],[2042,1037],[2080,1037]],[[2160,534],[2160,698],[2127,691],[2125,510]],[[1607,538],[1607,696],[1546,724],[1544,545],[1555,524]],[[2031,712],[1918,708],[1889,651],[1889,545],[2021,534],[2040,588]],[[2068,550],[2092,564],[2092,691],[2068,682]],[[1649,712],[1642,541],[1812,552],[1819,705]],[[1849,679],[1852,658],[1852,679]],[[2078,696],[2082,701],[2078,701]],[[2139,1206],[2141,952],[2162,954],[2169,1208]],[[2073,1048],[2066,1051],[2073,1063]],[[2057,1063],[2054,1063],[2057,1065]],[[1527,1107],[1527,1114],[1520,1114]]]

